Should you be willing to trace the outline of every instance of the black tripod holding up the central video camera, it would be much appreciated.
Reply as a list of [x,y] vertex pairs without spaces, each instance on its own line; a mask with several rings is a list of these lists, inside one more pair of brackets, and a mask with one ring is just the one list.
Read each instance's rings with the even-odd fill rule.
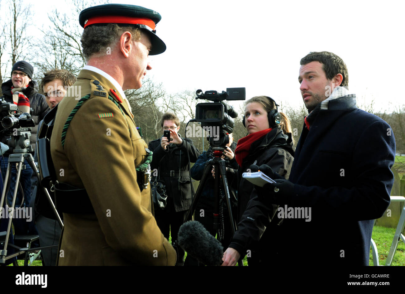
[[[226,163],[225,160],[222,159],[222,155],[224,155],[224,147],[213,147],[213,159],[210,159],[204,167],[203,177],[200,180],[200,184],[198,185],[196,195],[194,196],[194,200],[191,204],[190,209],[187,212],[187,216],[185,217],[185,221],[190,221],[192,215],[196,209],[198,200],[200,199],[201,193],[207,183],[207,180],[211,175],[211,168],[214,166],[215,168],[215,181],[214,181],[214,223],[213,228],[217,230],[219,228],[219,204],[220,204],[220,180],[222,180],[222,185],[225,191],[225,202],[228,208],[228,217],[231,225],[231,232],[232,235],[236,231],[236,222],[232,215],[232,205],[230,202],[230,193],[228,188],[228,180],[226,178]],[[242,258],[238,260],[238,265],[243,266]]]

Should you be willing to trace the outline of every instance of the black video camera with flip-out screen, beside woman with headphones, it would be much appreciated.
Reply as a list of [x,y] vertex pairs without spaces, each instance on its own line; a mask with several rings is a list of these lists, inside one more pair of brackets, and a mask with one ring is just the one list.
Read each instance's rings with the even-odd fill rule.
[[196,99],[207,99],[213,103],[198,103],[196,105],[195,121],[201,123],[201,127],[209,130],[207,140],[212,148],[225,148],[229,143],[228,133],[233,132],[234,118],[238,113],[224,100],[245,100],[245,88],[226,88],[226,92],[196,91]]

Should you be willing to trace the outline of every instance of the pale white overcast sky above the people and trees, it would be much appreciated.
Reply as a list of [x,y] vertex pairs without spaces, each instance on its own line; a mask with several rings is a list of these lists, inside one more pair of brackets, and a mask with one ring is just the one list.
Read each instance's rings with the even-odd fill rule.
[[[148,74],[168,92],[246,87],[247,99],[267,95],[301,105],[300,59],[310,51],[330,51],[345,61],[349,90],[358,101],[374,99],[375,109],[405,104],[403,1],[108,2],[162,15],[156,30],[167,50],[151,56]],[[34,3],[34,19],[46,20],[44,6]],[[53,3],[68,9],[62,0]]]

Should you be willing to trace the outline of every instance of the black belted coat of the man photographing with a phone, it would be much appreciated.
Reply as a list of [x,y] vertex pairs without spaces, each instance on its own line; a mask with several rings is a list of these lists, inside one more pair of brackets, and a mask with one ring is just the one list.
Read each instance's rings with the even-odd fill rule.
[[[156,139],[149,142],[149,149],[153,151],[153,159],[151,162],[151,169],[158,169],[160,179],[164,180],[166,184],[166,193],[168,197],[173,197],[173,203],[178,211],[188,210],[191,206],[191,187],[190,176],[162,176],[164,172],[188,172],[188,156],[190,162],[196,162],[198,156],[201,154],[197,148],[194,147],[192,140],[187,139],[187,144],[183,143],[169,144],[166,150],[160,145],[161,139]],[[187,173],[185,173],[187,174]]]

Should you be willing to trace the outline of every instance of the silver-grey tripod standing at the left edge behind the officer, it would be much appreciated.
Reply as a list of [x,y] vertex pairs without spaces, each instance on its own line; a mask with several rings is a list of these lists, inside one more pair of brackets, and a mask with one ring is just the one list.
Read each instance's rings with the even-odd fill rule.
[[[16,134],[14,135],[14,133],[16,133]],[[6,232],[5,241],[4,241],[4,249],[0,250],[0,265],[5,264],[6,260],[14,258],[15,256],[21,255],[23,253],[28,253],[30,251],[35,251],[35,250],[40,250],[40,249],[48,249],[48,248],[51,248],[51,247],[58,246],[58,245],[51,245],[51,246],[36,247],[34,249],[30,249],[28,247],[21,248],[21,247],[15,246],[13,244],[10,244],[10,246],[15,247],[19,251],[17,253],[13,253],[13,254],[11,254],[9,256],[6,256],[7,255],[7,247],[9,245],[9,236],[10,236],[10,232],[11,232],[11,223],[12,223],[12,219],[14,217],[14,212],[15,212],[14,207],[15,207],[15,201],[16,201],[16,198],[17,198],[18,183],[19,183],[19,180],[20,180],[21,169],[23,167],[23,163],[24,163],[25,159],[30,164],[32,170],[36,173],[38,183],[40,184],[40,187],[43,188],[43,191],[44,191],[49,203],[51,204],[51,207],[53,208],[53,211],[55,212],[55,217],[58,220],[58,223],[59,223],[60,227],[63,228],[62,219],[60,218],[58,212],[56,211],[56,208],[55,208],[55,205],[53,204],[51,196],[49,195],[48,190],[45,187],[43,187],[42,184],[41,184],[38,169],[36,168],[36,165],[34,163],[34,158],[32,157],[32,155],[30,153],[28,153],[28,152],[32,152],[32,147],[30,146],[30,140],[29,140],[30,135],[31,135],[31,132],[29,131],[29,128],[19,128],[19,129],[17,129],[17,132],[13,132],[13,135],[11,136],[11,138],[9,138],[7,140],[8,143],[9,143],[9,146],[15,146],[15,148],[13,150],[13,154],[11,154],[9,156],[9,163],[7,165],[7,171],[6,171],[5,181],[4,181],[4,187],[3,187],[3,191],[2,191],[2,194],[1,194],[1,200],[0,200],[0,210],[4,209],[3,204],[4,204],[4,200],[6,199],[7,182],[9,181],[9,178],[11,178],[11,165],[13,163],[17,163],[17,178],[16,178],[16,181],[15,181],[13,202],[12,202],[12,206],[11,206],[12,209],[11,209],[11,212],[9,212],[9,223],[8,223],[8,226],[7,226],[7,232]],[[25,260],[26,260],[25,263],[27,263],[28,262],[27,255],[26,255]]]

